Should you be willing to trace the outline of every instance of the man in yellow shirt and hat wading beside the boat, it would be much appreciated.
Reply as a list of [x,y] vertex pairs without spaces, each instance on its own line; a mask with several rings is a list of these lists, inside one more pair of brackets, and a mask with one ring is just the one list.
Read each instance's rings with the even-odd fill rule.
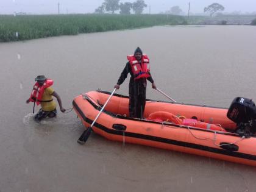
[[47,116],[49,118],[53,118],[57,115],[57,104],[52,99],[52,96],[57,98],[60,105],[60,111],[64,113],[65,108],[62,107],[62,100],[60,99],[59,94],[57,94],[51,87],[54,83],[53,80],[47,79],[44,76],[37,76],[35,81],[36,83],[33,87],[30,98],[26,101],[27,104],[31,101],[36,102],[37,105],[41,105],[40,110],[34,117],[35,121],[40,122],[41,119],[46,118]]

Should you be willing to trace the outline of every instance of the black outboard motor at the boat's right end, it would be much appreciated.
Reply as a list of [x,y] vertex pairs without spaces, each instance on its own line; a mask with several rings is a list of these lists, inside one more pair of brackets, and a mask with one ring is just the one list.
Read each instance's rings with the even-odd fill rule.
[[236,133],[249,137],[256,132],[256,106],[252,99],[235,98],[227,112],[227,118],[236,123]]

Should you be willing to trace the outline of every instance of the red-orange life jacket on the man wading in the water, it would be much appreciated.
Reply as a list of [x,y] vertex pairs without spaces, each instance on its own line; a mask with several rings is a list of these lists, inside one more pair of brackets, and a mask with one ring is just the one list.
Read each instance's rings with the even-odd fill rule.
[[39,105],[41,102],[46,102],[46,101],[41,101],[41,98],[43,97],[44,89],[51,87],[53,83],[54,82],[51,79],[46,79],[43,85],[39,85],[38,82],[36,82],[30,94],[29,101],[37,102],[37,105]]

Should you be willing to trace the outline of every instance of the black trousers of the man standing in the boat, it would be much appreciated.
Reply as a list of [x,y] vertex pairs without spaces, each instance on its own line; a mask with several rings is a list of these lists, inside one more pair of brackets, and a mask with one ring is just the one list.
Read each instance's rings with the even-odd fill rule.
[[135,80],[129,84],[129,116],[143,118],[146,105],[146,79]]

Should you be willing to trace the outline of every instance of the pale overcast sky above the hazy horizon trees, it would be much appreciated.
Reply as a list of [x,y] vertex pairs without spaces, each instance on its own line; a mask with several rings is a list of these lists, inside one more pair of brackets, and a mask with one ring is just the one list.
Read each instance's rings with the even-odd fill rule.
[[[136,0],[121,0],[120,2],[134,1]],[[58,2],[60,2],[60,13],[93,13],[104,0],[0,0],[0,15],[14,12],[58,13]],[[225,7],[224,12],[256,12],[256,0],[144,0],[144,2],[148,5],[144,13],[149,13],[149,5],[151,13],[165,12],[175,5],[179,5],[183,12],[187,13],[188,2],[191,3],[192,13],[204,12],[204,7],[213,2],[222,4]]]

